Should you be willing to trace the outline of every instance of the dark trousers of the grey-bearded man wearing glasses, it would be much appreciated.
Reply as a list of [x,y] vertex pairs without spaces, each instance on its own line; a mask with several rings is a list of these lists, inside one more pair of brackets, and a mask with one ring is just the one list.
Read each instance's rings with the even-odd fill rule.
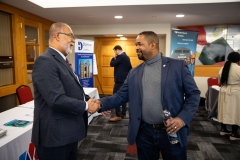
[[36,146],[39,160],[77,160],[78,142],[59,147]]

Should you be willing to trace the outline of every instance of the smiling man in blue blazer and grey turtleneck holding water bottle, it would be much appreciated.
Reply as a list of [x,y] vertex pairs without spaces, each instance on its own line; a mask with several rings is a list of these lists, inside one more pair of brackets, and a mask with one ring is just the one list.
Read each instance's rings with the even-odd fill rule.
[[[128,142],[136,142],[139,160],[187,159],[187,136],[200,101],[200,91],[183,60],[159,53],[159,38],[152,31],[136,38],[138,58],[144,62],[132,69],[122,87],[110,97],[95,103],[109,110],[129,102]],[[163,108],[172,119],[163,124]],[[168,133],[177,133],[177,144],[171,144]]]

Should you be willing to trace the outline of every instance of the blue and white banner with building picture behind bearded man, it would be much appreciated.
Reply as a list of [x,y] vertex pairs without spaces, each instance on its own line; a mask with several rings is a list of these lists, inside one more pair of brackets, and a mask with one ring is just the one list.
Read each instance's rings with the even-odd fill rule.
[[94,42],[75,40],[75,72],[83,87],[93,87],[93,48]]

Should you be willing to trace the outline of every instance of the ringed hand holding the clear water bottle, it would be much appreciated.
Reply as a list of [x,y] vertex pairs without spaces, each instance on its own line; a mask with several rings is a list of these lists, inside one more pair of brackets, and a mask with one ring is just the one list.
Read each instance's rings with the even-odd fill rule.
[[176,133],[184,126],[183,121],[179,117],[171,118],[166,123],[168,133]]

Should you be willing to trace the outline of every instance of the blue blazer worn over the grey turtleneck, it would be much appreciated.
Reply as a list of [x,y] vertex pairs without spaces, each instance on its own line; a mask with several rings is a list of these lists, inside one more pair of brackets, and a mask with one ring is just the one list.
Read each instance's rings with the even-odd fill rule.
[[[109,110],[129,102],[128,142],[133,144],[142,119],[142,75],[144,65],[133,68],[122,87],[114,95],[100,99],[102,110]],[[183,60],[162,57],[161,78],[162,106],[165,106],[173,117],[181,118],[186,124],[178,132],[179,142],[187,145],[187,136],[199,101],[200,91]],[[149,109],[151,105],[149,105]]]

